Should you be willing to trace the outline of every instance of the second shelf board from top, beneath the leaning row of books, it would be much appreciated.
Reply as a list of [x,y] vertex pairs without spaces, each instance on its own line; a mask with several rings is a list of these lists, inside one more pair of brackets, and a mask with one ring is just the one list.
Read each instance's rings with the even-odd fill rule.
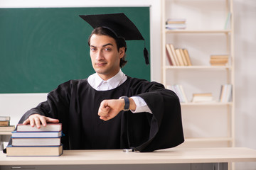
[[166,66],[166,69],[231,69],[231,66]]

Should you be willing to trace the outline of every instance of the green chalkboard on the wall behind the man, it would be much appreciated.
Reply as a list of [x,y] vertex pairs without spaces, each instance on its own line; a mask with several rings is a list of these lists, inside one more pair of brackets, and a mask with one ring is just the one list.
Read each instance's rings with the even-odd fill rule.
[[[0,93],[47,93],[94,73],[87,45],[92,28],[79,15],[102,13],[125,13],[150,52],[149,7],[0,8]],[[122,70],[149,80],[143,49],[144,41],[127,41]]]

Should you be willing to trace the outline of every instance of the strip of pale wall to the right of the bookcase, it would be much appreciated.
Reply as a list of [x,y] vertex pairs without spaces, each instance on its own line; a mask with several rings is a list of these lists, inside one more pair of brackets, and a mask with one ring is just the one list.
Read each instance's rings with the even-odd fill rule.
[[[256,1],[234,0],[235,17],[235,142],[256,149]],[[256,163],[238,164],[256,169]],[[243,167],[245,166],[245,167]]]

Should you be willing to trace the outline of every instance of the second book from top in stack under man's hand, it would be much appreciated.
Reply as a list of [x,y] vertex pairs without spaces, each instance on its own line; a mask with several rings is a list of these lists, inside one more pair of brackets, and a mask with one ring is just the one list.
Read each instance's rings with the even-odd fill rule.
[[11,137],[61,137],[61,131],[48,131],[48,132],[11,132]]

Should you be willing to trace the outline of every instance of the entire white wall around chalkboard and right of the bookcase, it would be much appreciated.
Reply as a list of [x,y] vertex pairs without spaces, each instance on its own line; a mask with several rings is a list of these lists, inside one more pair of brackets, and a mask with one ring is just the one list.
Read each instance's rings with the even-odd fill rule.
[[[237,147],[256,149],[256,1],[233,0],[235,17],[235,139]],[[0,8],[151,6],[151,79],[161,81],[161,3],[159,0],[129,1],[33,1],[1,0]],[[26,100],[27,98],[27,100]],[[44,101],[46,94],[1,94],[0,115],[20,115]],[[18,118],[12,118],[13,123]],[[256,169],[256,164],[238,164],[237,169]]]

